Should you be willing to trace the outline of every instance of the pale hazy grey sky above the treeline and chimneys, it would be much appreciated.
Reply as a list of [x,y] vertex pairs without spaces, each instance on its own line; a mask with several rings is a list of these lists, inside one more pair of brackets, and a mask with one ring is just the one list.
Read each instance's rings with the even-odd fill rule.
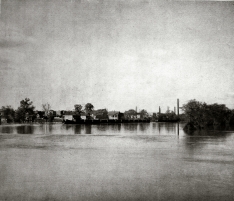
[[0,106],[234,109],[234,2],[2,0]]

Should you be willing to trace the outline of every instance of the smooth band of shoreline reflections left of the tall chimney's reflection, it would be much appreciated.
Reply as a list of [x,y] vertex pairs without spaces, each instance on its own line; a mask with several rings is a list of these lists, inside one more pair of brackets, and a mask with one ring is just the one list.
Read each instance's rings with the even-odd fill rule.
[[172,123],[129,123],[129,124],[8,124],[0,126],[0,133],[12,134],[149,134],[174,135],[176,124]]

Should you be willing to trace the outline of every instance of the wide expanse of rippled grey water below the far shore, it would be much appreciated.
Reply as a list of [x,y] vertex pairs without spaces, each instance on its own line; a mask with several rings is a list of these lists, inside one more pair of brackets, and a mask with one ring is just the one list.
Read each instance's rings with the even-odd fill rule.
[[0,125],[0,200],[234,200],[234,131]]

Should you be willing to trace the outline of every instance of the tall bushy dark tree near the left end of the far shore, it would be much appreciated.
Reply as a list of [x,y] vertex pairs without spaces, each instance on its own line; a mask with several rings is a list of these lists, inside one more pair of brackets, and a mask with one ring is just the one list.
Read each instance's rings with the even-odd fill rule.
[[24,100],[20,101],[20,106],[16,110],[16,120],[20,122],[24,122],[27,120],[29,115],[34,114],[35,107],[32,105],[33,102],[30,101],[29,98],[25,98]]

